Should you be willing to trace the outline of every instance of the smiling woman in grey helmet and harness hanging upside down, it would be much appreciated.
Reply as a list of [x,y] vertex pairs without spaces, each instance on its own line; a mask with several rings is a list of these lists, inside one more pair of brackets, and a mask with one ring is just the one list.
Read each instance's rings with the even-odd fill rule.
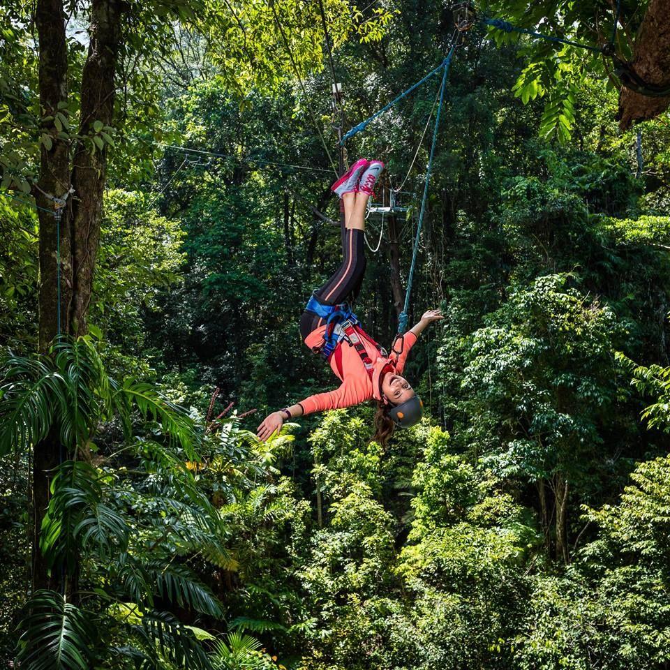
[[380,161],[360,158],[332,186],[344,202],[342,265],[313,292],[300,318],[305,344],[327,359],[341,385],[272,412],[258,426],[258,437],[267,440],[283,422],[312,412],[334,410],[375,399],[374,440],[386,445],[395,426],[413,426],[422,415],[422,402],[408,380],[401,376],[405,360],[417,337],[433,321],[442,318],[439,309],[427,311],[408,333],[399,336],[391,355],[360,326],[345,300],[356,297],[365,271],[364,230],[368,198],[384,170]]

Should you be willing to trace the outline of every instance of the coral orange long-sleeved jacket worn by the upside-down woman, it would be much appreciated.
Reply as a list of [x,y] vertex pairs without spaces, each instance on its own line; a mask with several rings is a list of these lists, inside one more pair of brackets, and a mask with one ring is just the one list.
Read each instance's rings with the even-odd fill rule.
[[[325,329],[324,325],[313,330],[305,338],[305,344],[310,349],[319,347]],[[372,378],[355,347],[345,340],[341,341],[330,357],[330,366],[336,377],[342,381],[341,385],[334,391],[318,393],[300,401],[298,404],[301,405],[304,414],[349,407],[373,398],[380,400],[382,374],[389,371],[402,373],[407,355],[415,345],[417,337],[414,333],[405,333],[402,345],[397,347],[401,353],[399,355],[392,353],[389,357],[382,356],[365,333],[362,333],[361,341],[374,364]]]

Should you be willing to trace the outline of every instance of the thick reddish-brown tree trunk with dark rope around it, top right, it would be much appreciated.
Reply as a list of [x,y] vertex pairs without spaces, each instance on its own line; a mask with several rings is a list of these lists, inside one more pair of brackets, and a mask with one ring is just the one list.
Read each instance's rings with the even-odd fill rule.
[[[670,0],[650,0],[633,47],[632,69],[648,84],[670,86]],[[624,86],[619,93],[620,127],[654,119],[668,105],[670,97],[643,96]]]

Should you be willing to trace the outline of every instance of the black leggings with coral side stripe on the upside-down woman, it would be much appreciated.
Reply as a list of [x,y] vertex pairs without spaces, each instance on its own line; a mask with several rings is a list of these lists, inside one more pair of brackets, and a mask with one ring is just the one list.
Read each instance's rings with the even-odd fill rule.
[[[361,290],[365,274],[364,232],[345,228],[342,223],[342,265],[322,287],[316,297],[327,305],[336,305],[350,298],[355,300]],[[300,317],[300,334],[304,340],[314,329],[323,325],[318,314],[304,311]]]

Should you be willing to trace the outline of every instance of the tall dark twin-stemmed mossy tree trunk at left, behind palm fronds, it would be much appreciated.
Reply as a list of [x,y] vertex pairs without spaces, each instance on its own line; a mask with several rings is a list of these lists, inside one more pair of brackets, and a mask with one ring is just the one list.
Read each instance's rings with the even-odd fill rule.
[[[92,3],[89,52],[82,72],[80,135],[91,133],[96,121],[112,124],[121,13],[126,7],[119,0],[94,0]],[[53,209],[54,201],[49,196],[62,198],[70,187],[73,188],[63,208],[59,227],[52,214],[39,211],[39,348],[43,353],[58,333],[59,315],[62,334],[77,336],[87,332],[107,168],[106,145],[91,152],[92,140],[78,141],[73,149],[70,146],[72,140],[59,135],[63,131],[57,127],[60,121],[57,124],[55,117],[57,112],[65,113],[64,105],[68,101],[66,19],[62,0],[39,0],[36,4],[40,105],[43,117],[47,117],[43,122],[43,133],[52,139],[49,149],[45,144],[41,147],[36,203],[45,209]],[[57,431],[52,431],[34,447],[34,588],[64,587],[63,576],[48,574],[39,548],[39,536],[49,502],[50,473],[64,457],[70,456],[73,454],[62,451]]]

